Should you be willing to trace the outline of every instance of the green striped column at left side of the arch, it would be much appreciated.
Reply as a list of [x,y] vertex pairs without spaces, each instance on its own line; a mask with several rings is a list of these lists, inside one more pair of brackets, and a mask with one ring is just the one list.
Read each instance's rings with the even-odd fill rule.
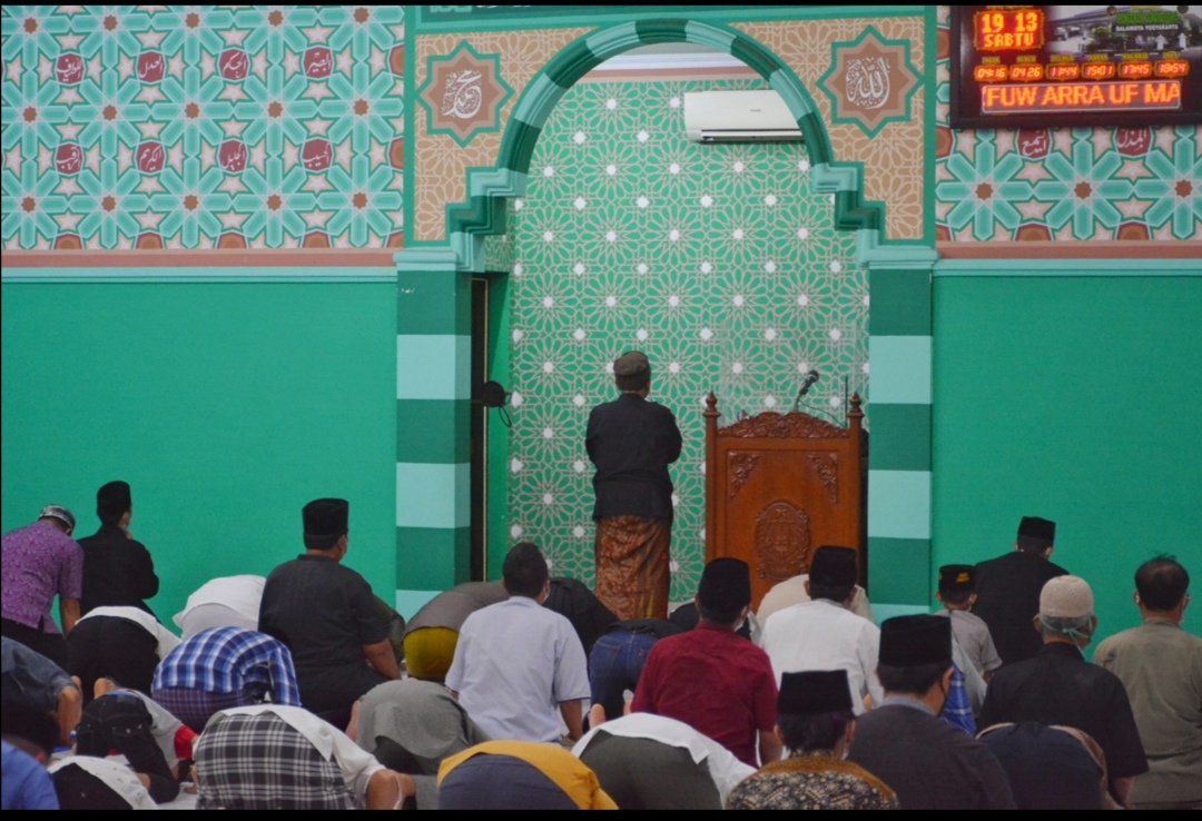
[[471,281],[447,249],[397,254],[397,589],[470,572]]

